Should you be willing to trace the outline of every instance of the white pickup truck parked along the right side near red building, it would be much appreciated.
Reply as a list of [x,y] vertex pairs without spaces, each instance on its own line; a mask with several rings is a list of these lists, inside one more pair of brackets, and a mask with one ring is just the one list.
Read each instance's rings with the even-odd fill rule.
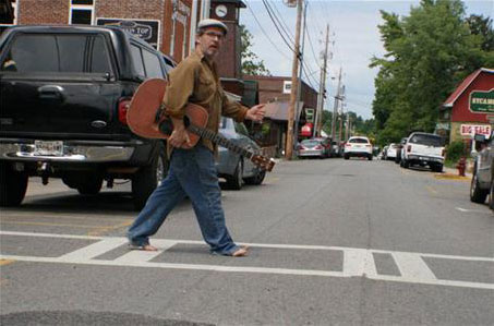
[[444,165],[444,140],[435,134],[413,132],[407,138],[400,166],[429,166],[434,172],[442,172]]

